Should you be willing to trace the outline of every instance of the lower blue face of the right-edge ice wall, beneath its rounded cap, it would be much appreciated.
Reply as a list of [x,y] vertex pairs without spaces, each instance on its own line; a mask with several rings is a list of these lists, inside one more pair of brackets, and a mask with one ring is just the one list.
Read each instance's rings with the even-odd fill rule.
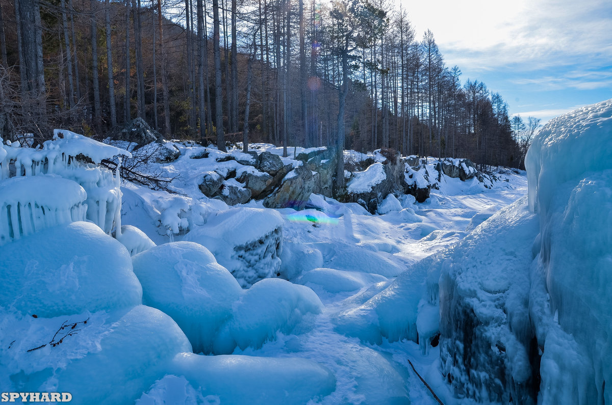
[[612,403],[612,169],[572,183],[542,218],[531,288],[542,403]]

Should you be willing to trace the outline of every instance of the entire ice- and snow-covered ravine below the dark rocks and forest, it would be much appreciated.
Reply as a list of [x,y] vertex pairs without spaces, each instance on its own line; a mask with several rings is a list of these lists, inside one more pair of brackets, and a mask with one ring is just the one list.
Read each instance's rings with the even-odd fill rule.
[[[437,404],[416,370],[445,404],[612,403],[611,117],[612,100],[551,121],[527,176],[501,169],[487,187],[433,161],[439,190],[375,215],[315,193],[302,210],[204,196],[203,179],[230,193],[271,178],[239,150],[164,144],[176,160],[144,167],[168,193],[119,192],[97,166],[155,144],[2,146],[1,392]],[[294,158],[269,162],[291,182]]]

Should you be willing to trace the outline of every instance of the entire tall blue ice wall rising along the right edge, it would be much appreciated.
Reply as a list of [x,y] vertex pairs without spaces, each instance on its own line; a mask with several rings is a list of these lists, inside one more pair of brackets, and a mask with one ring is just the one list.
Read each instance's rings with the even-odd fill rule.
[[525,165],[540,213],[530,316],[541,403],[612,403],[612,100],[548,122]]

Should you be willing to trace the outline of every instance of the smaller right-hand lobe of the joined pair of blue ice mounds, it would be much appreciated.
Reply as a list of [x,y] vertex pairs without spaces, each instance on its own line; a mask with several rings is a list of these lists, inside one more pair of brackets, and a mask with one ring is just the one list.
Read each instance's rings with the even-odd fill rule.
[[214,341],[214,352],[230,354],[236,347],[258,349],[278,332],[291,333],[308,315],[319,314],[323,303],[310,288],[280,278],[258,281],[234,303],[233,317]]

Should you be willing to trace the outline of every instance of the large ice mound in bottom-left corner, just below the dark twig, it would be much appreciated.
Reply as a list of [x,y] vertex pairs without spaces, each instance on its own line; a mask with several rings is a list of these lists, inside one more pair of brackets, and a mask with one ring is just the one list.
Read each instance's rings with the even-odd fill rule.
[[[191,351],[176,323],[154,308],[138,305],[108,314],[81,314],[74,320],[88,316],[88,324],[78,324],[80,332],[57,347],[28,352],[22,345],[0,352],[13,390],[70,392],[81,404],[133,403],[166,374],[177,354]],[[49,338],[63,319],[54,318],[56,325],[47,326]],[[31,321],[32,327],[43,323],[49,325],[50,320]],[[59,354],[65,357],[58,359]]]

